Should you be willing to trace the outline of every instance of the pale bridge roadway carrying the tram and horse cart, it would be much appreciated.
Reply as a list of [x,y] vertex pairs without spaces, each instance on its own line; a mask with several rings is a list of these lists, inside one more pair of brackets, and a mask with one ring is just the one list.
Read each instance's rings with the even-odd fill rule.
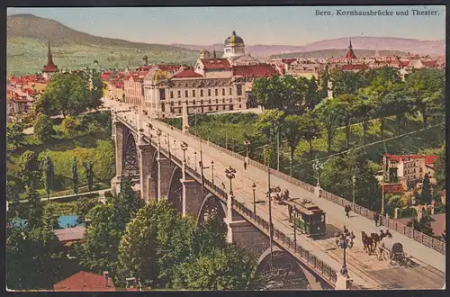
[[[118,106],[117,103],[108,102],[115,111],[126,110],[129,105],[124,103]],[[137,126],[137,114],[135,112],[126,112],[121,114],[121,118],[126,117],[126,121],[132,127]],[[185,135],[175,128],[171,130],[166,124],[151,120],[142,115],[139,117],[142,122],[140,127],[144,128],[148,135],[147,124],[151,123],[153,127],[160,129],[161,147],[167,148],[166,139],[171,145],[170,149],[175,157],[183,158],[183,152],[179,148],[180,141],[188,144],[186,150],[187,166],[195,167],[193,164],[197,152],[196,161],[200,160],[200,148],[202,147],[202,157],[204,166],[211,166],[211,159],[214,160],[214,184],[224,184],[229,191],[229,180],[225,177],[225,168],[232,166],[237,170],[236,178],[233,180],[233,192],[236,200],[244,203],[248,209],[253,209],[253,191],[251,184],[257,184],[257,215],[268,221],[268,206],[266,203],[267,192],[267,173],[257,167],[247,166],[244,170],[241,160],[231,157],[228,154],[212,148],[207,144],[200,143],[198,140]],[[156,131],[152,130],[152,138],[157,139]],[[168,137],[167,137],[168,135]],[[175,149],[174,149],[175,139]],[[200,168],[197,166],[197,170]],[[205,169],[203,172],[206,179],[211,181],[211,169]],[[328,234],[324,238],[311,239],[303,235],[297,236],[297,241],[302,247],[307,248],[316,257],[319,257],[327,265],[336,271],[340,270],[342,263],[342,250],[336,247],[332,237],[336,229],[342,229],[346,225],[348,229],[356,234],[356,244],[352,249],[347,250],[347,267],[349,275],[358,285],[368,289],[439,289],[445,284],[446,257],[437,251],[421,245],[419,242],[402,236],[393,230],[392,236],[398,238],[404,246],[405,251],[410,255],[413,266],[398,267],[388,266],[384,262],[379,262],[375,256],[369,256],[363,251],[361,241],[361,231],[377,231],[374,222],[363,216],[351,212],[350,218],[345,217],[343,208],[328,200],[318,198],[299,186],[288,183],[281,178],[271,175],[271,184],[279,185],[283,190],[288,189],[293,199],[308,198],[317,203],[320,208],[327,212]],[[272,207],[272,217],[275,229],[279,229],[293,239],[293,228],[288,222],[288,213],[285,205],[274,205]]]

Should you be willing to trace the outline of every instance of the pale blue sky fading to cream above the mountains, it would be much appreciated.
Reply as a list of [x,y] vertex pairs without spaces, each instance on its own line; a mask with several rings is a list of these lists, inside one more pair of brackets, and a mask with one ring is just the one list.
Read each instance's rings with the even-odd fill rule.
[[[392,11],[392,16],[343,16],[345,11]],[[413,9],[438,15],[413,15]],[[445,6],[254,6],[8,8],[97,36],[148,43],[211,45],[235,30],[247,45],[302,46],[342,37],[446,38]],[[333,15],[316,15],[317,10]],[[395,12],[409,11],[398,16]]]

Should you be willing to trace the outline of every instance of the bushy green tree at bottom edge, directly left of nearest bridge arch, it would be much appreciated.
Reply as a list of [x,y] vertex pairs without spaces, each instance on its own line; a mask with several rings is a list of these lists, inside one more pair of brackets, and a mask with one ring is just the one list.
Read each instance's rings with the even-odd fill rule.
[[255,275],[256,263],[240,247],[213,248],[193,264],[177,267],[174,287],[184,290],[246,290]]

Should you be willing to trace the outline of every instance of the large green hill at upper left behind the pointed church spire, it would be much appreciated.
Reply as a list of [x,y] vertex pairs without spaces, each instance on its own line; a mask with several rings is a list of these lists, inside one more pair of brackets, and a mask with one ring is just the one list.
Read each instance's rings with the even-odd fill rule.
[[102,67],[136,67],[144,55],[148,63],[192,64],[198,55],[170,45],[98,37],[33,14],[10,15],[6,23],[7,72],[14,75],[42,69],[47,62],[47,40],[59,68],[92,67],[94,60]]

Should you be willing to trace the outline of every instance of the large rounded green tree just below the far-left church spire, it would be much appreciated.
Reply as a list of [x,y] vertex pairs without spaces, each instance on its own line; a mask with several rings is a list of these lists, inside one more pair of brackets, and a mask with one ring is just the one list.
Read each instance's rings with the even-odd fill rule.
[[91,106],[89,77],[79,73],[59,73],[51,77],[35,110],[46,115],[79,114]]

